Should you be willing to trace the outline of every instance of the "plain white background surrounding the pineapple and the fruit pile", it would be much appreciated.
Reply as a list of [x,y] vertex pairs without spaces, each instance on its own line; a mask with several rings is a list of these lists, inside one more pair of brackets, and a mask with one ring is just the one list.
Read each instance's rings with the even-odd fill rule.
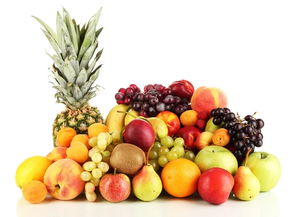
[[[285,216],[297,202],[298,4],[289,0],[251,1],[6,1],[1,3],[1,202],[0,216]],[[221,206],[198,196],[135,198],[111,204],[84,198],[28,204],[14,181],[17,166],[51,152],[52,124],[64,109],[55,103],[48,76],[54,54],[37,16],[56,31],[64,6],[81,25],[103,6],[97,29],[104,48],[91,104],[106,116],[120,87],[186,79],[195,88],[217,87],[228,108],[241,116],[258,111],[265,121],[266,151],[282,165],[279,184],[254,201],[228,200]],[[296,160],[296,161],[295,161]],[[293,198],[293,199],[292,199]],[[295,199],[296,198],[296,199]],[[101,206],[102,204],[102,206]],[[180,206],[179,206],[180,205]],[[80,213],[81,212],[81,213]],[[107,214],[105,214],[107,212]],[[97,215],[96,215],[97,216]]]

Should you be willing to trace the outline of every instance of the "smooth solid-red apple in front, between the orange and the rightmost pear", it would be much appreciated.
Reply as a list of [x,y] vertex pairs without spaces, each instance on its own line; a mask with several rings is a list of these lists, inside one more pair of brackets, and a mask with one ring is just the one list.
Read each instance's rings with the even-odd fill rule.
[[203,200],[212,204],[223,204],[234,186],[233,176],[225,169],[213,167],[199,178],[198,191]]

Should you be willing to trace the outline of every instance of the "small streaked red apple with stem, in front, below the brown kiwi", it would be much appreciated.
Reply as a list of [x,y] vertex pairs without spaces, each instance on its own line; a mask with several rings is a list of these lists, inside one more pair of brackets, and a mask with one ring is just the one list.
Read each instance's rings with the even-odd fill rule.
[[99,182],[99,192],[109,202],[126,200],[131,193],[131,182],[123,173],[109,173],[103,176]]

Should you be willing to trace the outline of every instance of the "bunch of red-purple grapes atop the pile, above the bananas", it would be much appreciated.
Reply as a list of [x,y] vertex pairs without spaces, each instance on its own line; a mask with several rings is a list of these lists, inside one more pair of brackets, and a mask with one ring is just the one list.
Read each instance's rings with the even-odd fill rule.
[[174,96],[171,88],[161,84],[146,85],[143,92],[131,84],[126,89],[120,88],[115,99],[118,104],[132,104],[132,108],[143,117],[155,117],[161,111],[171,111],[179,116],[190,109],[186,99]]

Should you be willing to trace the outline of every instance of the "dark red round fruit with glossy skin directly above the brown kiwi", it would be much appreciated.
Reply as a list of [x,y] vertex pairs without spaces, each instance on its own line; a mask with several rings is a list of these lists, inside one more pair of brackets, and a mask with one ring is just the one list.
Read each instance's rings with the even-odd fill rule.
[[136,118],[127,124],[123,132],[123,141],[147,152],[155,141],[155,132],[148,121]]

